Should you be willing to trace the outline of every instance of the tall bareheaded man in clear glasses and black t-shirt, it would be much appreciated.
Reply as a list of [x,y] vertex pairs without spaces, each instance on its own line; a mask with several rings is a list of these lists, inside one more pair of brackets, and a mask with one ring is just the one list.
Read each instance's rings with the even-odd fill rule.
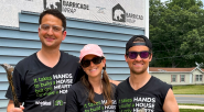
[[76,77],[79,58],[60,51],[66,37],[66,18],[57,10],[46,10],[39,23],[42,48],[19,61],[13,71],[15,92],[24,107],[14,108],[9,88],[8,112],[65,112],[68,88],[80,78]]

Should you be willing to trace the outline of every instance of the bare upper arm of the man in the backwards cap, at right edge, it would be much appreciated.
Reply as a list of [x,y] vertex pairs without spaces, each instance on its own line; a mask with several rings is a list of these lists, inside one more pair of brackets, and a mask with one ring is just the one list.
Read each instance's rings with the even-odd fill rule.
[[164,103],[163,103],[163,111],[164,112],[179,112],[178,102],[173,94],[172,89],[169,89]]

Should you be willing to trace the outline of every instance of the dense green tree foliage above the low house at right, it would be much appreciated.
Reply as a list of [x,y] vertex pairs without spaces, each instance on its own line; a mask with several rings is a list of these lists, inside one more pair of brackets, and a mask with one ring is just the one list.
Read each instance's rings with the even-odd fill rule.
[[204,9],[201,0],[150,0],[151,67],[195,67],[204,63]]

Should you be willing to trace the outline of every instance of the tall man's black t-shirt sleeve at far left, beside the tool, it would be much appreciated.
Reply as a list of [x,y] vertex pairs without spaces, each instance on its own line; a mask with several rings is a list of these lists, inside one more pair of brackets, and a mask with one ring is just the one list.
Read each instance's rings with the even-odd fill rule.
[[[23,85],[22,77],[17,69],[14,69],[13,71],[13,86],[14,86],[14,90],[15,90],[19,102],[24,102],[24,97],[25,97],[25,94],[23,94],[24,93],[23,91],[25,91],[23,90],[24,85]],[[10,86],[7,90],[6,98],[13,100]]]

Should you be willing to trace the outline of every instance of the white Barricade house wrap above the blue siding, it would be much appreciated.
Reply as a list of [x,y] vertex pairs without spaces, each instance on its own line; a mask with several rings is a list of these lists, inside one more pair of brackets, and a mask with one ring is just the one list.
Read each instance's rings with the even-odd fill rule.
[[[0,25],[19,27],[20,11],[57,9],[66,18],[144,27],[146,0],[2,0]],[[147,5],[149,7],[149,5]]]

